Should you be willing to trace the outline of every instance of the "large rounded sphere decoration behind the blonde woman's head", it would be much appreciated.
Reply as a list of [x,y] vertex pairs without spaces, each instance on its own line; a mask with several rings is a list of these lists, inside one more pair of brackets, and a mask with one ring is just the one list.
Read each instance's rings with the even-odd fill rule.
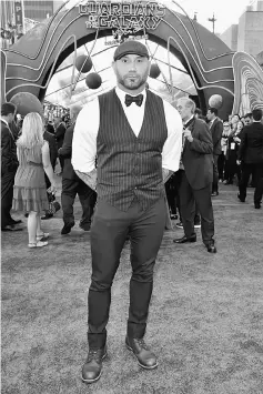
[[29,92],[20,92],[12,97],[10,100],[14,105],[17,105],[17,112],[22,117],[26,117],[30,112],[38,112],[43,117],[43,105],[39,99]]

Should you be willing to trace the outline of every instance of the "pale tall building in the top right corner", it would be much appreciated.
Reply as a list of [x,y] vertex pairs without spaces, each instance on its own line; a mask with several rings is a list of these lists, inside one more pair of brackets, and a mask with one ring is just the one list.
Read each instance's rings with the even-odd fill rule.
[[233,51],[256,55],[263,48],[263,0],[253,0],[239,19],[220,36]]

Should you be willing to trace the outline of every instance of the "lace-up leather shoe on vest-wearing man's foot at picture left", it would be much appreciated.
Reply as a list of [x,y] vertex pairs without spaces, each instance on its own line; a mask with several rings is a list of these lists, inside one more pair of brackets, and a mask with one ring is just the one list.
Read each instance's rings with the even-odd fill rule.
[[82,381],[84,383],[94,383],[101,377],[102,361],[107,356],[107,347],[90,348],[88,358],[82,366]]

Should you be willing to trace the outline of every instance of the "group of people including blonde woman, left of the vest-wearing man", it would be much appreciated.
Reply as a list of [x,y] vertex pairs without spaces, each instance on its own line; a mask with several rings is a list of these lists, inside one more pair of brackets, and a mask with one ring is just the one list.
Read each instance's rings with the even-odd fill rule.
[[33,112],[16,121],[16,112],[11,102],[1,105],[1,231],[22,231],[22,221],[11,218],[11,210],[23,212],[28,218],[28,246],[48,245],[49,233],[41,230],[41,220],[54,214],[51,198],[58,184],[58,160],[64,223],[61,234],[68,234],[74,225],[77,193],[82,204],[80,228],[89,231],[97,193],[75,175],[71,164],[73,123],[79,109],[71,109],[70,121],[58,117],[53,123]]

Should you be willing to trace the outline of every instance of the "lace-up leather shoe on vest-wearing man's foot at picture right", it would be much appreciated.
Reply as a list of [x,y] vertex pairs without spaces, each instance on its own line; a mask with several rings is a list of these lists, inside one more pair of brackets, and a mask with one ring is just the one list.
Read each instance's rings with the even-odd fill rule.
[[133,352],[139,365],[144,370],[154,370],[158,366],[156,356],[149,350],[143,339],[125,339],[125,345]]

